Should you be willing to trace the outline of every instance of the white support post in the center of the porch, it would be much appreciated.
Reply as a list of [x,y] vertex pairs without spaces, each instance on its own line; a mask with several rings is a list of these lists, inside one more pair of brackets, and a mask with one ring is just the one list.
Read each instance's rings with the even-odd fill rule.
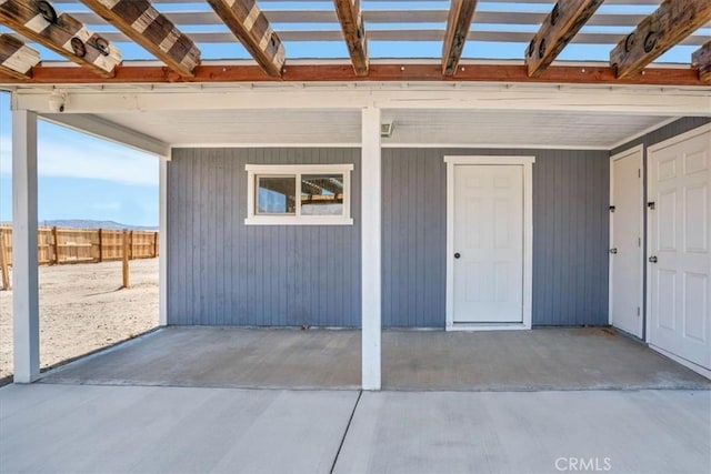
[[362,111],[361,325],[362,387],[381,387],[381,175],[380,109]]

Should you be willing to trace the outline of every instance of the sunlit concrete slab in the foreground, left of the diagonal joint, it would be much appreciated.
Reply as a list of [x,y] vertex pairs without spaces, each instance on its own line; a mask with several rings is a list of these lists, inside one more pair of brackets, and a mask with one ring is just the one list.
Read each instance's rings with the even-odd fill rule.
[[358,392],[0,389],[0,471],[328,473]]

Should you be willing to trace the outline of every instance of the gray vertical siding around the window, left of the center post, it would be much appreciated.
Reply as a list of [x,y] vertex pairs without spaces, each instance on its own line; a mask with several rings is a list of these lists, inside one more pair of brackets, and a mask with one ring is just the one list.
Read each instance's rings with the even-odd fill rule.
[[[353,163],[354,225],[244,225],[247,163]],[[360,325],[360,150],[178,149],[168,167],[168,323]]]

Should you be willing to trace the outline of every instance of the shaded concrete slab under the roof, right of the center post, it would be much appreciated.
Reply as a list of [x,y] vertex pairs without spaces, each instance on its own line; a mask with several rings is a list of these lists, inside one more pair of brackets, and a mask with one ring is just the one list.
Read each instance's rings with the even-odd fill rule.
[[709,390],[711,381],[611,329],[383,333],[383,387]]

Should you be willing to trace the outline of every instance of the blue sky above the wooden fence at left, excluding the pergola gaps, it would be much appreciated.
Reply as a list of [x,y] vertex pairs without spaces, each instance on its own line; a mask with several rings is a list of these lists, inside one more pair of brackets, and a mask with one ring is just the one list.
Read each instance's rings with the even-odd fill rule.
[[[10,95],[0,92],[0,222],[12,220]],[[38,123],[38,219],[158,226],[158,158]]]

